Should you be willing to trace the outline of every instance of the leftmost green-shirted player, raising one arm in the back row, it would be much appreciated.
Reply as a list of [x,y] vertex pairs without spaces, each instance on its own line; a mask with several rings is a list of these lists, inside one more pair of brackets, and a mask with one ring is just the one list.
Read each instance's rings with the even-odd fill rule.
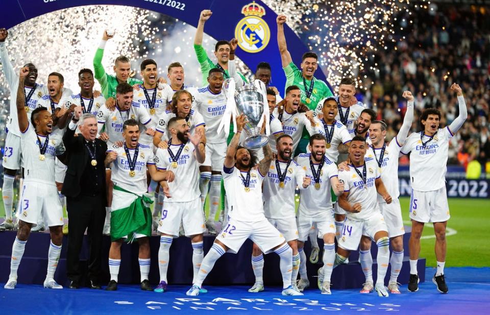
[[102,95],[107,100],[108,98],[116,97],[116,87],[121,82],[128,82],[131,86],[143,83],[141,80],[133,79],[131,75],[131,62],[126,56],[119,56],[114,60],[115,76],[109,75],[102,66],[102,57],[104,57],[104,49],[109,39],[114,37],[114,34],[107,34],[107,30],[102,35],[102,41],[95,51],[93,57],[93,70],[95,79],[99,81],[102,89]]

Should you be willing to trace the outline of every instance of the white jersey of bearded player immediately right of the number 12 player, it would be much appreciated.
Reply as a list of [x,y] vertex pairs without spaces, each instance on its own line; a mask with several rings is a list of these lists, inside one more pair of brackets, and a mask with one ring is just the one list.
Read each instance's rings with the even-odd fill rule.
[[295,190],[296,186],[303,189],[304,169],[295,161],[291,160],[287,167],[287,162],[279,161],[280,172],[286,172],[284,177],[284,187],[279,186],[279,175],[276,162],[271,163],[264,183],[264,212],[265,216],[271,219],[291,219],[295,213]]

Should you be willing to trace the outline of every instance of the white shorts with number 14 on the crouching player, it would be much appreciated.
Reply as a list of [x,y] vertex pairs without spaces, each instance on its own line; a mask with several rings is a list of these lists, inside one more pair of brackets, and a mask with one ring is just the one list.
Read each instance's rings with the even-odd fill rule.
[[359,246],[362,235],[371,237],[374,240],[374,235],[379,231],[388,232],[388,227],[381,212],[374,213],[369,220],[365,221],[349,220],[349,216],[347,216],[338,246],[348,251],[355,251]]

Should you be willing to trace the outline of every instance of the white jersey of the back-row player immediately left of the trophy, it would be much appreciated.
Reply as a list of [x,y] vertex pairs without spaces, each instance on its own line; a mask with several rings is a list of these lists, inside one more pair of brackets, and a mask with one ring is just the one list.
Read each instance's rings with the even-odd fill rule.
[[226,109],[226,96],[223,91],[218,94],[213,94],[208,87],[198,89],[198,93],[194,95],[195,109],[197,109],[204,118],[206,123],[206,141],[209,143],[226,142],[225,131],[222,130],[219,134],[217,129],[221,118]]

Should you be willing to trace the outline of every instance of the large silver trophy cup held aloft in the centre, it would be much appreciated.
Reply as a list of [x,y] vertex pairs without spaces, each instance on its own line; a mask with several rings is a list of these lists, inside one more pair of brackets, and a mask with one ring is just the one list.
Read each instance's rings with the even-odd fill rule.
[[[228,81],[230,79],[227,79]],[[228,94],[228,82],[223,84],[225,93]],[[243,126],[246,132],[246,139],[243,141],[243,147],[251,150],[264,147],[269,138],[261,134],[261,122],[264,109],[268,112],[267,100],[264,94],[253,83],[247,84],[235,89],[235,103],[238,114],[247,116],[247,123]],[[262,122],[265,120],[262,119]]]

